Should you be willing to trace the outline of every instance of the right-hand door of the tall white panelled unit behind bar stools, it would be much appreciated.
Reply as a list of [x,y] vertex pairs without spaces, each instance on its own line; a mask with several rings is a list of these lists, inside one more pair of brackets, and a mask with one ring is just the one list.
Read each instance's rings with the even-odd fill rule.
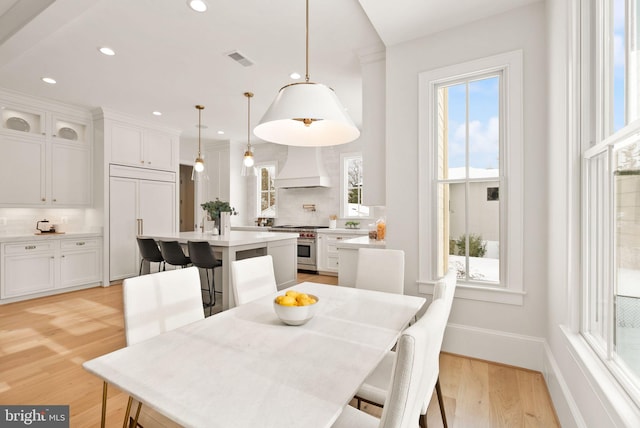
[[176,231],[176,185],[140,180],[138,216],[142,235],[165,235]]

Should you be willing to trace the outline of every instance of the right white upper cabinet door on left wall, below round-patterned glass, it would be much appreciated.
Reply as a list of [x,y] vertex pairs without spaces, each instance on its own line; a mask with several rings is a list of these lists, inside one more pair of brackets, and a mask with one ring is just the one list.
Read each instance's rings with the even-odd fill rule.
[[51,203],[90,205],[91,155],[89,147],[52,144]]

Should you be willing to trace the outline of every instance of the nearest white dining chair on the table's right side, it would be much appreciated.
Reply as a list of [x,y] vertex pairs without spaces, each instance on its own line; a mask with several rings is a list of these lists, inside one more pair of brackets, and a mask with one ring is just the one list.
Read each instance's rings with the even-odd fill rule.
[[424,397],[439,372],[440,336],[447,322],[444,299],[431,303],[426,313],[407,328],[396,344],[388,393],[377,419],[346,406],[334,428],[414,428],[420,421]]

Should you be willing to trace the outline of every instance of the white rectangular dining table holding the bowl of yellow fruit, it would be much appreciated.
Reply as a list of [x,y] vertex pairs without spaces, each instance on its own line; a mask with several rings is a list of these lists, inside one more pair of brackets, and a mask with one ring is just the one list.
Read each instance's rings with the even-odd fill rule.
[[[84,368],[185,427],[330,427],[425,299],[305,282],[313,319],[277,294],[128,346]],[[103,416],[104,406],[103,399]]]

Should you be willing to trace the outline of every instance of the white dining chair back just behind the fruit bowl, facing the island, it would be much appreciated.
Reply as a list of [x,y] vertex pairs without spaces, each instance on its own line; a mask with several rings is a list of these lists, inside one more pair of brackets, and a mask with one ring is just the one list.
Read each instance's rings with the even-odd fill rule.
[[231,288],[238,306],[277,292],[273,258],[266,255],[231,262]]

